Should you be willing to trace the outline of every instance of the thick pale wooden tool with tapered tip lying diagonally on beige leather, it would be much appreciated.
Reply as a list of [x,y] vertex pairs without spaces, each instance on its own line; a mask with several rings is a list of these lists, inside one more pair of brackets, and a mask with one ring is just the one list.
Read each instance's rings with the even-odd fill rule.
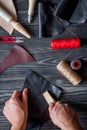
[[0,16],[8,23],[10,23],[18,32],[26,36],[27,38],[30,38],[31,35],[25,30],[25,28],[19,23],[16,22],[13,17],[0,6]]

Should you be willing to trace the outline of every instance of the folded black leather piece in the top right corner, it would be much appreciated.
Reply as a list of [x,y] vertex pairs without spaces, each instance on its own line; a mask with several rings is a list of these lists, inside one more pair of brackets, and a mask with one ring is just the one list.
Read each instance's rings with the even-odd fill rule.
[[84,23],[87,20],[87,0],[61,0],[55,14],[70,23]]

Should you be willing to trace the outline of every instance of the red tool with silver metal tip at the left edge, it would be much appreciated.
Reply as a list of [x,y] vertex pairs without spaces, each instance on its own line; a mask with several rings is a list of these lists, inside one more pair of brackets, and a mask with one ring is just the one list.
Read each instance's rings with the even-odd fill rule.
[[21,43],[23,41],[23,37],[15,37],[15,36],[0,36],[0,42],[6,43]]

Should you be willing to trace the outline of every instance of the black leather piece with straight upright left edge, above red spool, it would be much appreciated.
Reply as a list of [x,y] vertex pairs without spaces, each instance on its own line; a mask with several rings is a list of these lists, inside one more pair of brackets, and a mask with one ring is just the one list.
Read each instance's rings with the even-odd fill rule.
[[53,15],[53,5],[51,2],[38,3],[39,37],[53,37],[65,30]]

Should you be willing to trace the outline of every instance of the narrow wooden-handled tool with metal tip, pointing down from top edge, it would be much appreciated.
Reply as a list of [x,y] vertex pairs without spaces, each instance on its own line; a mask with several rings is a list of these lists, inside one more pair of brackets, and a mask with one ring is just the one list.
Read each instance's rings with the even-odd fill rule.
[[34,15],[36,0],[29,0],[29,7],[28,7],[28,23],[31,23],[32,17]]

